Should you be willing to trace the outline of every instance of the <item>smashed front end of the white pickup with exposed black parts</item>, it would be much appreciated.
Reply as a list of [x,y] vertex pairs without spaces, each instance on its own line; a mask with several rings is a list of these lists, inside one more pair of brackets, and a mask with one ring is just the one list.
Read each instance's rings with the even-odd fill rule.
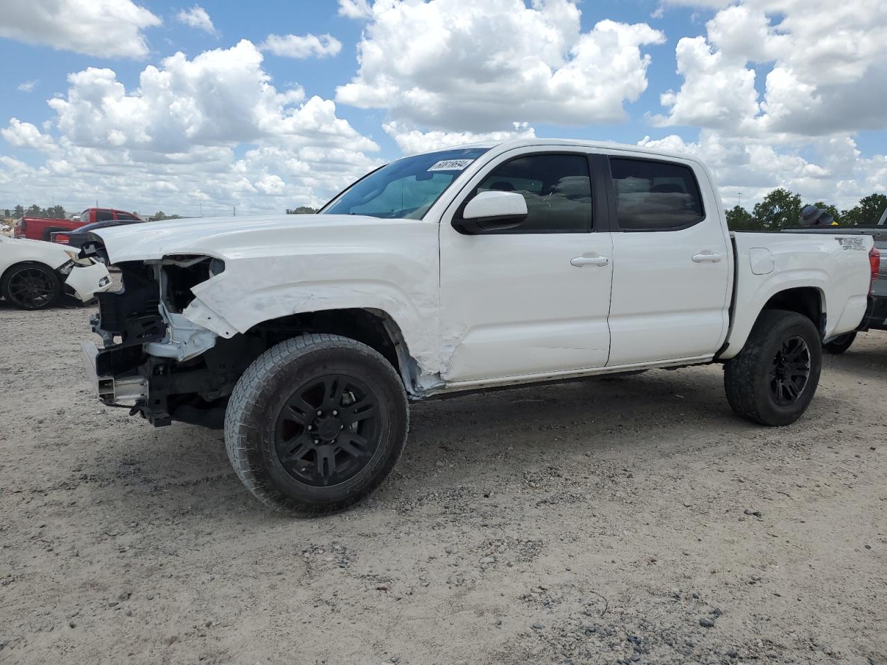
[[[128,407],[153,426],[172,420],[221,428],[234,384],[262,350],[262,340],[218,337],[192,317],[208,317],[193,286],[224,271],[211,256],[170,255],[122,262],[123,286],[98,293],[93,332],[103,346],[83,344],[83,359],[99,399]],[[188,317],[184,312],[194,305]]]

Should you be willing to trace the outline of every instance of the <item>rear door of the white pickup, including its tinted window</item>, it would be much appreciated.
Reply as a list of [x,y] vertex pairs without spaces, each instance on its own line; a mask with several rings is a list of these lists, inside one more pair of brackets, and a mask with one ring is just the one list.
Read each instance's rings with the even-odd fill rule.
[[713,355],[728,328],[732,248],[708,176],[641,154],[610,154],[608,165],[608,365]]

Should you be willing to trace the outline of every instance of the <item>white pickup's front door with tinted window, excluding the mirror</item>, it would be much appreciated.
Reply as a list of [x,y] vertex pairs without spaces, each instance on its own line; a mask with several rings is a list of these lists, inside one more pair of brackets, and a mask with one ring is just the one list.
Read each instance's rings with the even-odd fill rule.
[[[579,150],[511,151],[448,208],[440,226],[443,379],[483,383],[607,364],[613,247],[591,163]],[[520,192],[526,221],[456,231],[453,215],[487,190]]]

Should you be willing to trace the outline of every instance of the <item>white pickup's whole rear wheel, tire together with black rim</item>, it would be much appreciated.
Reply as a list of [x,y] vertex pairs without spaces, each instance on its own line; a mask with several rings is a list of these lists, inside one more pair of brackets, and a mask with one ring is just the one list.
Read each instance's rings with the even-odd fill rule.
[[760,425],[789,425],[816,392],[822,369],[820,334],[796,312],[766,309],[738,356],[724,368],[733,411]]

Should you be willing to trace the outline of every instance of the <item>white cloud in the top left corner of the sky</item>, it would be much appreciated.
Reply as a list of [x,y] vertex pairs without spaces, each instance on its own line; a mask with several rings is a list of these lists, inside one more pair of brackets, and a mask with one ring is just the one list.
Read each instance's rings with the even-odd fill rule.
[[142,31],[159,25],[131,0],[3,0],[0,37],[99,58],[144,59]]

